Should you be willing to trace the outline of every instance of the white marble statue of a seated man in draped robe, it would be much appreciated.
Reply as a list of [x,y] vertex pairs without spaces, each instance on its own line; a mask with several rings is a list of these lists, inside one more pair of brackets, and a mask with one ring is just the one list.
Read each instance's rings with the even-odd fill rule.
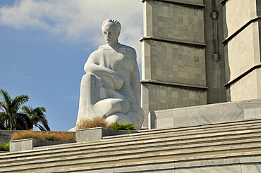
[[132,123],[140,129],[144,112],[140,108],[140,73],[136,52],[120,44],[121,24],[105,20],[102,33],[107,42],[91,53],[80,84],[77,122],[102,117],[108,122]]

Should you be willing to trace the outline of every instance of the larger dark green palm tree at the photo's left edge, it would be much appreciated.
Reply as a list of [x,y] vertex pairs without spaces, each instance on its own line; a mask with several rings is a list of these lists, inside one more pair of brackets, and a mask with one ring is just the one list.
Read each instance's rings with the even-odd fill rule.
[[0,90],[0,128],[10,130],[29,129],[31,121],[28,115],[20,111],[20,106],[29,100],[29,96],[20,95],[15,98],[11,96],[4,89]]

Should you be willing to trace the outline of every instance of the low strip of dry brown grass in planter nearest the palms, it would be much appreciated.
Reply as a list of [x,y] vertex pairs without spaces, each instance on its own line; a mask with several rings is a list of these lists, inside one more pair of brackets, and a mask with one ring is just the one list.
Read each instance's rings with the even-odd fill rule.
[[75,141],[74,132],[42,132],[25,130],[13,132],[11,141],[19,139],[37,139],[40,141]]

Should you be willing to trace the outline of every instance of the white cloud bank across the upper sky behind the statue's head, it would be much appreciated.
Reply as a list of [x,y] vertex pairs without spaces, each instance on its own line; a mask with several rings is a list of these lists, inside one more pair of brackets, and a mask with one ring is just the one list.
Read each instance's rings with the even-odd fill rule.
[[18,0],[13,6],[0,8],[0,25],[45,30],[95,46],[104,44],[100,27],[107,18],[120,21],[119,41],[140,52],[142,3],[138,0]]

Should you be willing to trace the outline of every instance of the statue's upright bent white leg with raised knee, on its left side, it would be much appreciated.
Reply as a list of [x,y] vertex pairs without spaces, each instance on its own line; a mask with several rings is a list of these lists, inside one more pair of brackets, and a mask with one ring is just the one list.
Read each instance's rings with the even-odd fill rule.
[[92,73],[83,75],[80,84],[80,102],[76,124],[87,118],[102,117],[103,113],[95,106],[95,103],[107,97],[109,97],[109,93],[104,89],[100,77]]

